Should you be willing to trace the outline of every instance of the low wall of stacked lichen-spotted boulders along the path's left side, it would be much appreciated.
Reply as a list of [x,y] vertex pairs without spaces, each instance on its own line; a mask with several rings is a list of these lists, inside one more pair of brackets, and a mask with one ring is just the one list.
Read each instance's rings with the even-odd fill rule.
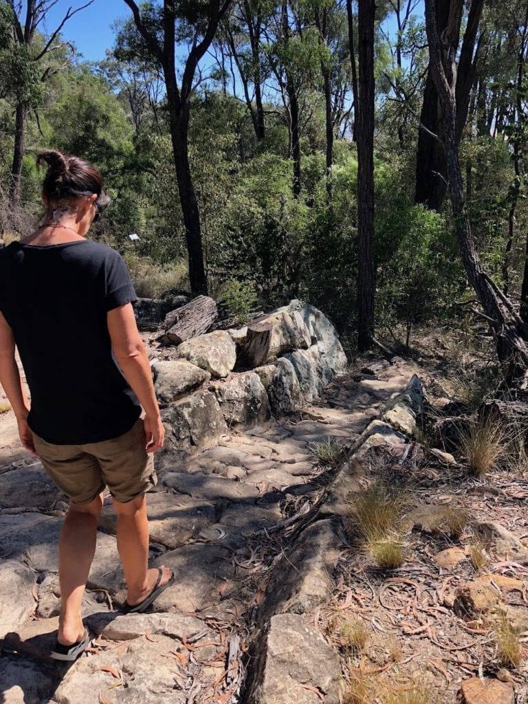
[[172,359],[152,363],[166,430],[158,462],[163,468],[201,452],[237,425],[295,413],[346,366],[332,323],[301,301],[183,342]]

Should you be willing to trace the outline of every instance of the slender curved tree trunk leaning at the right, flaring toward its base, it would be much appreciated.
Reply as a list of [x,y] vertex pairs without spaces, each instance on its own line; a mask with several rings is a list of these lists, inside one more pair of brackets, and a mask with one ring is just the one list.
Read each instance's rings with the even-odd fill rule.
[[455,51],[441,35],[436,22],[435,0],[425,0],[427,40],[429,44],[429,68],[439,96],[441,108],[439,137],[446,159],[446,172],[451,191],[451,206],[455,232],[460,247],[465,272],[484,309],[483,317],[489,323],[496,342],[499,360],[506,369],[510,383],[528,387],[528,326],[517,315],[508,296],[505,296],[494,281],[484,272],[474,244],[470,220],[464,202],[464,187],[458,142],[456,138],[455,103]]

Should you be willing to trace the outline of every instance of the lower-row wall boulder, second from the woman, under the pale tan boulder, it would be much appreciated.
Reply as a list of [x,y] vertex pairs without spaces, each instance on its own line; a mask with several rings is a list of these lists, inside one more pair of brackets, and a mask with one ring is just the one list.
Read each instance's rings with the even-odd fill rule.
[[270,417],[268,394],[255,372],[237,374],[227,382],[210,386],[227,425],[259,425]]

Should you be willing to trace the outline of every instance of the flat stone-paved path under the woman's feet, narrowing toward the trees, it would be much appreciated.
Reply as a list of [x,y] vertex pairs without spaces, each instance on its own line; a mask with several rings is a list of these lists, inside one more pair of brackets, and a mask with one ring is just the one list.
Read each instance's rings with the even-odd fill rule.
[[[377,377],[341,377],[300,415],[222,436],[160,472],[149,495],[151,564],[172,567],[176,580],[152,613],[120,615],[124,585],[105,506],[84,604],[94,641],[69,670],[46,657],[57,627],[56,545],[67,507],[20,448],[12,414],[0,415],[2,701],[272,704],[291,680],[298,704],[310,704],[322,695],[309,672],[290,666],[310,647],[335,697],[339,666],[318,631],[298,621],[324,598],[325,560],[339,555],[332,512],[316,512],[333,474],[314,447],[328,438],[353,444],[411,374],[397,362]],[[275,679],[256,672],[264,631],[268,653],[278,653]],[[244,695],[244,682],[258,693]]]

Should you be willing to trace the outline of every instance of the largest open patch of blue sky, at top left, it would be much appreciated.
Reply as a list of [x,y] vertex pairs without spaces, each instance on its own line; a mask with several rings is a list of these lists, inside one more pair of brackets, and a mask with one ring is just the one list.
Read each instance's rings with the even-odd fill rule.
[[[87,0],[58,0],[51,8],[43,27],[48,34],[61,23],[69,7],[73,9]],[[115,20],[132,16],[130,8],[123,0],[94,0],[85,10],[78,12],[64,25],[61,32],[64,39],[73,42],[87,61],[100,61],[106,49],[113,46],[114,32],[111,28]]]

